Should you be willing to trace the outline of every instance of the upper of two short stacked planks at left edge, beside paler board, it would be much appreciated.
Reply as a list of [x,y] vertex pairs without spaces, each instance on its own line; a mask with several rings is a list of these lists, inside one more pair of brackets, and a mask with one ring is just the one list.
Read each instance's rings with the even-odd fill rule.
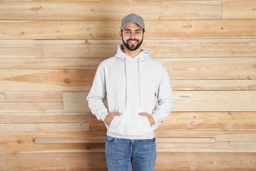
[[0,102],[63,101],[61,91],[0,91]]

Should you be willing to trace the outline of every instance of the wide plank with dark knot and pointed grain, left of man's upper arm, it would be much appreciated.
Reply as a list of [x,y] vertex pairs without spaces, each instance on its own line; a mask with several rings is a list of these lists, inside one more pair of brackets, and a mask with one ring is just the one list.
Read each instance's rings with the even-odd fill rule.
[[[1,70],[1,89],[90,89],[95,70]],[[18,83],[14,84],[14,83]]]

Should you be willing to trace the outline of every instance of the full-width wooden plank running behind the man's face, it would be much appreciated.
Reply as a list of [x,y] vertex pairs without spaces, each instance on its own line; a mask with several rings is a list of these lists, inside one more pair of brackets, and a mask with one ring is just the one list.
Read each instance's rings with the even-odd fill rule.
[[[120,21],[1,20],[0,24],[0,39],[120,39]],[[145,24],[148,39],[256,38],[256,20],[146,20]]]

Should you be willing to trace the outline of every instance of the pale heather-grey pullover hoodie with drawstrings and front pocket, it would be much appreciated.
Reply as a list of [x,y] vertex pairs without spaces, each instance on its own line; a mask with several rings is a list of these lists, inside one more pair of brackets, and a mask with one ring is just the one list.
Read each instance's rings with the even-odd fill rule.
[[[118,45],[114,57],[101,62],[93,86],[87,97],[89,108],[98,120],[105,120],[111,112],[121,112],[107,126],[107,135],[124,139],[150,139],[154,131],[173,109],[175,99],[167,70],[163,64],[151,59],[149,49],[134,58],[122,51]],[[108,107],[104,101],[107,97]],[[148,112],[155,124],[150,126]]]

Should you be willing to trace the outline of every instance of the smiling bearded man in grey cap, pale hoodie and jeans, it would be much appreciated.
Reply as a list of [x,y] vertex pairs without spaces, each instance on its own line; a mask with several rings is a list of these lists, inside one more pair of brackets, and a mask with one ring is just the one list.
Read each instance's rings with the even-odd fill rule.
[[[153,171],[154,130],[169,116],[175,99],[167,70],[142,49],[144,20],[136,14],[122,19],[117,53],[99,65],[87,97],[92,113],[107,126],[108,170]],[[104,101],[108,99],[108,109]]]

